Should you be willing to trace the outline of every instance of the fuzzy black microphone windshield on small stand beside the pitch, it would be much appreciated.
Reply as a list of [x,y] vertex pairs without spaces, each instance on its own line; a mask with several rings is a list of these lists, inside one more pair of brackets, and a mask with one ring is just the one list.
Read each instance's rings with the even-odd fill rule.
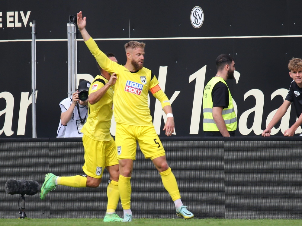
[[5,192],[9,195],[35,195],[39,191],[39,184],[34,180],[9,179],[5,184]]

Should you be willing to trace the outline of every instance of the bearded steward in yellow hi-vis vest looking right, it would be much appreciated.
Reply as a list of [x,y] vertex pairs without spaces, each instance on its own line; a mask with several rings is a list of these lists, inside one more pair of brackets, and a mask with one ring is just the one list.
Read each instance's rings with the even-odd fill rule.
[[229,55],[222,54],[216,59],[216,66],[217,74],[204,88],[204,136],[230,137],[235,135],[237,118],[226,80],[234,78],[235,62]]

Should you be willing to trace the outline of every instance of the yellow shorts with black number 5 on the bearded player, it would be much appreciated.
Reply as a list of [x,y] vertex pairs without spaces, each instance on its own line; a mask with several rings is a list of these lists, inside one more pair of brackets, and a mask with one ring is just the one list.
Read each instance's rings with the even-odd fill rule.
[[115,146],[117,159],[132,159],[136,156],[136,141],[146,159],[155,159],[165,155],[165,149],[159,140],[154,126],[131,126],[116,124]]

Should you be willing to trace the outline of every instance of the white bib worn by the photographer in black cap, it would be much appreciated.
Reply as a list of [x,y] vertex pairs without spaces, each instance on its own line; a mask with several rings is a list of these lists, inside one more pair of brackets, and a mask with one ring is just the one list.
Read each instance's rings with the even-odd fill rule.
[[[59,104],[61,113],[68,110],[72,103],[72,96],[62,100]],[[66,126],[59,123],[56,137],[83,137],[83,133],[80,132],[82,125],[86,122],[88,117],[87,106],[77,105],[72,112],[72,116]]]

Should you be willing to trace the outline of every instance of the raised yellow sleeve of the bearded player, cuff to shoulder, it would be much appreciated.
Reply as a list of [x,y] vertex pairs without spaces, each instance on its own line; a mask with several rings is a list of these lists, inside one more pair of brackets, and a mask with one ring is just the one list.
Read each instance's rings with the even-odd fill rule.
[[86,46],[92,53],[92,55],[95,57],[98,64],[101,66],[102,69],[105,71],[108,71],[109,73],[116,72],[116,67],[118,67],[118,64],[112,60],[110,60],[106,54],[104,54],[96,44],[95,40],[90,37],[87,41],[85,41]]

